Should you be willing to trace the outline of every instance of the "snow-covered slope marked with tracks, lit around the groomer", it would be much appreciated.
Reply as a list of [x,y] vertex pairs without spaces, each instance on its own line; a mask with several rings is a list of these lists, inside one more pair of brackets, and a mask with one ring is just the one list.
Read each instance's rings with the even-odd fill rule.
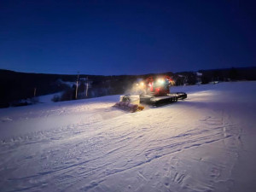
[[255,191],[256,82],[174,87],[126,113],[119,96],[0,110],[1,191]]

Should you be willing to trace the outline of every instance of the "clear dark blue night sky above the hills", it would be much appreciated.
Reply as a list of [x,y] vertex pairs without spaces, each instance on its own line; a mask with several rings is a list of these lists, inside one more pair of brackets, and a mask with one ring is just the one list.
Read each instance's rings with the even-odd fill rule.
[[143,74],[250,67],[250,1],[0,0],[0,68]]

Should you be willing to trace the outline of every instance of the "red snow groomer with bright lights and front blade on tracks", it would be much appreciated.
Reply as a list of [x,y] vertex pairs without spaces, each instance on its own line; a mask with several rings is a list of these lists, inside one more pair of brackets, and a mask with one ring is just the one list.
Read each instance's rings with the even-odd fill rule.
[[173,84],[174,81],[169,76],[156,79],[148,77],[146,80],[136,84],[135,90],[140,92],[139,94],[120,96],[120,101],[114,107],[136,112],[144,108],[140,106],[140,103],[157,107],[187,98],[187,94],[184,92],[171,93],[170,87]]

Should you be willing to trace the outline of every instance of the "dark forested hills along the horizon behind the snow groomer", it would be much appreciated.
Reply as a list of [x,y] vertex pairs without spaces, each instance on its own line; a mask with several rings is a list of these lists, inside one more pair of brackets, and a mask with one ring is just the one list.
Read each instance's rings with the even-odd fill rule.
[[[212,80],[256,80],[256,67],[212,69],[199,71],[202,76],[198,79],[195,72],[183,73],[154,73],[143,75],[79,75],[78,98],[91,98],[123,94],[137,79],[148,76],[169,75],[177,85],[207,84]],[[43,73],[18,73],[9,70],[0,70],[0,108],[29,104],[27,99],[34,96],[44,96],[56,92],[63,92],[61,98],[56,97],[55,102],[75,99],[77,75],[43,74]],[[86,83],[89,83],[87,96],[85,95]],[[25,100],[20,102],[20,100]],[[38,101],[30,101],[38,102]]]

